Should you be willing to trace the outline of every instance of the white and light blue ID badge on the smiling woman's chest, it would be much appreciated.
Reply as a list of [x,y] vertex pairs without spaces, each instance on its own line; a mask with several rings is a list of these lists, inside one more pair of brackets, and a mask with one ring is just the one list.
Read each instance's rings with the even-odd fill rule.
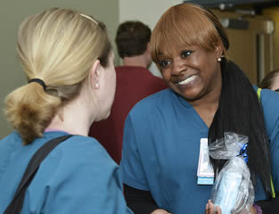
[[208,138],[201,138],[197,176],[198,185],[213,185],[214,183],[214,171],[209,162]]

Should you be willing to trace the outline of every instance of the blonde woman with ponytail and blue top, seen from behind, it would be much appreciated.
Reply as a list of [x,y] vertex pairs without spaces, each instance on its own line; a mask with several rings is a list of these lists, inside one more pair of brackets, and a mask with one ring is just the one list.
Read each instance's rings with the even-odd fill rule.
[[105,25],[83,13],[52,8],[21,23],[17,51],[29,84],[6,98],[15,129],[0,141],[0,213],[12,201],[33,154],[58,136],[72,135],[46,156],[21,213],[132,213],[119,166],[88,137],[110,115],[116,87]]

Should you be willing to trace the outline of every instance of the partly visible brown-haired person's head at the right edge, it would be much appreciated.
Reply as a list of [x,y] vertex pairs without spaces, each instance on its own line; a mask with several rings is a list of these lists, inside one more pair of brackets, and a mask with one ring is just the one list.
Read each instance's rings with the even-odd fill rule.
[[260,88],[267,88],[279,93],[279,69],[267,73],[259,84]]

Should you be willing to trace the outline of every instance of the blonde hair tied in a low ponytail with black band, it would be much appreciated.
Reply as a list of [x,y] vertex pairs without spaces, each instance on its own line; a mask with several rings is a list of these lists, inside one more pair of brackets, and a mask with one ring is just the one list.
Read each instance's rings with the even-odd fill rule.
[[17,52],[28,80],[6,97],[8,122],[25,144],[43,136],[57,108],[78,95],[95,60],[107,65],[111,51],[107,31],[95,21],[70,9],[52,8],[21,23]]

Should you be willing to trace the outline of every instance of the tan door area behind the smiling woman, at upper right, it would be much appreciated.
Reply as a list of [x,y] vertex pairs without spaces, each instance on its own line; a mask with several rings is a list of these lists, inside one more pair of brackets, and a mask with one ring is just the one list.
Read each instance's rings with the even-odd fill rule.
[[221,20],[232,18],[249,22],[248,29],[226,29],[230,41],[228,54],[250,78],[251,83],[258,85],[265,73],[273,67],[273,50],[270,45],[270,38],[273,36],[267,28],[270,19],[263,15],[241,18],[242,14],[236,12],[213,12]]

